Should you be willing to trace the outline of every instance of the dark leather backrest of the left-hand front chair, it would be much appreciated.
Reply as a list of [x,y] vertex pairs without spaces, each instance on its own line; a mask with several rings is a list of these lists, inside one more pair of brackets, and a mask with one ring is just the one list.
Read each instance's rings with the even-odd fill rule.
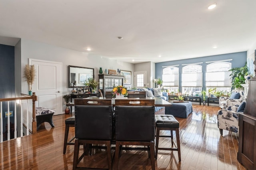
[[76,138],[86,140],[111,140],[111,99],[75,99],[74,105]]

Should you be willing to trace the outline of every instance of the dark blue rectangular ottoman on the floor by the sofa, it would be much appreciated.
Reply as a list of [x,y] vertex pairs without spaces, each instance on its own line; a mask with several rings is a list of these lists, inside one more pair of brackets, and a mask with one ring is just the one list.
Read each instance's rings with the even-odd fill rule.
[[165,115],[173,115],[175,117],[187,118],[192,113],[191,101],[183,103],[172,103],[171,107],[165,107]]

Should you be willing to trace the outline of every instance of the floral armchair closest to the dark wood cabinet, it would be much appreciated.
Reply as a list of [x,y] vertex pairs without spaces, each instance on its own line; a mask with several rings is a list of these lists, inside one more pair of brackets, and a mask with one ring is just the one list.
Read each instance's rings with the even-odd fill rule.
[[218,117],[218,128],[220,129],[220,134],[223,135],[223,129],[229,130],[231,132],[238,132],[238,118],[239,113],[236,112],[238,107],[230,106],[226,109],[221,109],[217,113]]

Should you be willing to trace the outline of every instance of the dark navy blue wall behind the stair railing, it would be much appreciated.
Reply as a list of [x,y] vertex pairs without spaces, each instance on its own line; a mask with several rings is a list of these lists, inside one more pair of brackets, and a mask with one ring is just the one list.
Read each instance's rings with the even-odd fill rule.
[[[0,44],[0,99],[15,97],[15,79],[14,79],[14,46]],[[7,118],[4,112],[7,112],[7,102],[2,103],[3,107],[3,133],[4,140],[7,140]],[[10,111],[14,111],[14,102],[10,102]],[[13,125],[14,117],[10,117]],[[10,132],[10,138],[14,138],[14,133]]]

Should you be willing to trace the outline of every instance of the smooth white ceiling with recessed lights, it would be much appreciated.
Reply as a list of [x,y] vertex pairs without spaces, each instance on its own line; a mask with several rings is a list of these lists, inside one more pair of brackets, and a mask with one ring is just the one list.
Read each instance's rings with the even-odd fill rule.
[[255,8],[256,0],[0,0],[0,43],[90,47],[130,63],[234,53],[256,43]]

